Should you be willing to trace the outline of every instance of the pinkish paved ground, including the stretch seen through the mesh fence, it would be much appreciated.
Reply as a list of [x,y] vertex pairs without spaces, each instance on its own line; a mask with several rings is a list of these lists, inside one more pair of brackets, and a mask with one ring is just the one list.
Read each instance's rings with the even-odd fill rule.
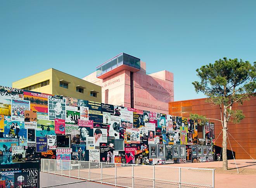
[[[179,168],[173,167],[194,167],[194,168],[207,168],[215,169],[215,187],[216,188],[256,188],[256,161],[254,160],[236,160],[237,167],[239,169],[239,174],[237,174],[237,169],[234,160],[228,161],[228,171],[222,170],[222,162],[202,162],[202,163],[186,163],[186,164],[166,164],[154,166],[155,174],[153,173],[153,166],[135,166],[134,171],[134,185],[139,188],[150,188],[153,186],[152,178],[155,176],[157,179],[155,187],[157,188],[177,188],[179,181]],[[85,162],[86,163],[86,162]],[[88,162],[87,162],[88,163]],[[99,163],[97,163],[99,164]],[[102,168],[102,181],[115,184],[115,182],[120,186],[132,186],[132,168],[125,164],[116,164],[115,168],[111,164],[107,164],[106,167]],[[93,166],[93,165],[92,165]],[[63,170],[62,174],[69,176],[80,177],[84,179],[93,179],[95,181],[100,181],[101,170],[96,167],[89,169],[88,167],[81,167],[78,173],[77,169]],[[52,171],[52,173],[61,174],[61,171]],[[115,178],[115,173],[117,178]],[[154,174],[154,175],[153,175]],[[212,171],[209,170],[195,170],[195,169],[181,169],[181,179],[183,183],[182,187],[195,187],[195,184],[199,184],[197,187],[204,187],[200,185],[212,185]],[[42,180],[42,179],[41,179]],[[74,179],[73,179],[74,180]],[[76,181],[80,181],[76,179]],[[190,185],[189,183],[194,183]],[[55,184],[56,185],[56,184]],[[79,185],[78,185],[79,186]],[[76,187],[76,186],[75,186]],[[86,187],[86,186],[85,186]]]

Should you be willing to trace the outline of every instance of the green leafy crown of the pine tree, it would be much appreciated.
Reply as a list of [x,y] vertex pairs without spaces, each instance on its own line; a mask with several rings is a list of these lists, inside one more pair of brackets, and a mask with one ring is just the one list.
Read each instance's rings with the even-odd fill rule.
[[223,58],[196,71],[201,82],[192,82],[195,91],[203,92],[214,104],[242,103],[255,94],[256,62],[251,65],[247,61]]

